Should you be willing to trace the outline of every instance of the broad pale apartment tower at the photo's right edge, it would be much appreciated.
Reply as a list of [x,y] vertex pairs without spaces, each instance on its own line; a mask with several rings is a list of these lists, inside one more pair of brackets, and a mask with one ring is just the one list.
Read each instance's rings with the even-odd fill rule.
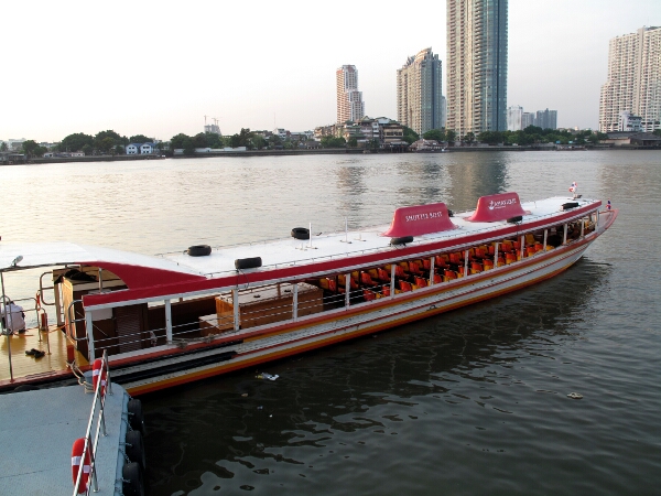
[[640,28],[610,40],[599,131],[617,131],[624,111],[641,118],[642,131],[661,129],[661,28]]

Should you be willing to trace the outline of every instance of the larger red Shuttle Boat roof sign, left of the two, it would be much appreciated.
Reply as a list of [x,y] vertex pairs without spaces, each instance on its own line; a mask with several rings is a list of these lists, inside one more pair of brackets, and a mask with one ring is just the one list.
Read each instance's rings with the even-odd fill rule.
[[455,225],[447,215],[444,203],[415,205],[394,211],[392,224],[382,236],[401,238],[403,236],[421,236],[431,233],[454,229]]

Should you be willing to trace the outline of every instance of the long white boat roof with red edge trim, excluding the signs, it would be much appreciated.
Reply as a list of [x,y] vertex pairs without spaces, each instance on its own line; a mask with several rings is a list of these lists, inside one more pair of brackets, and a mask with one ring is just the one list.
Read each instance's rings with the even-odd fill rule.
[[[578,206],[563,211],[562,205],[570,202],[576,202]],[[520,233],[521,225],[525,226],[524,229],[538,228],[579,217],[598,208],[600,204],[602,202],[596,200],[575,200],[566,196],[524,202],[520,205],[523,215],[517,225],[508,223],[507,219],[475,222],[477,209],[474,209],[454,214],[451,218],[452,228],[445,226],[441,231],[419,234],[413,241],[402,245],[391,245],[391,238],[386,236],[388,231],[392,231],[394,220],[390,226],[372,226],[347,233],[313,233],[310,239],[303,240],[289,237],[214,247],[210,255],[201,257],[187,255],[184,248],[176,254],[147,256],[72,242],[1,241],[0,271],[67,265],[101,267],[122,279],[129,290],[141,290],[141,298],[152,298],[155,294],[228,288],[239,283],[239,276],[242,277],[241,283],[268,282],[321,270],[344,270],[369,262],[395,260],[398,257],[415,256],[415,252],[423,254],[431,249],[477,244],[480,240],[487,241],[490,238],[497,239]],[[19,256],[22,259],[12,266]],[[253,257],[261,258],[262,267],[241,271],[236,269],[235,260]],[[246,279],[247,276],[250,277]],[[177,284],[180,288],[175,291],[173,288]],[[155,287],[163,288],[159,291],[148,290]],[[100,296],[95,298],[102,300]]]

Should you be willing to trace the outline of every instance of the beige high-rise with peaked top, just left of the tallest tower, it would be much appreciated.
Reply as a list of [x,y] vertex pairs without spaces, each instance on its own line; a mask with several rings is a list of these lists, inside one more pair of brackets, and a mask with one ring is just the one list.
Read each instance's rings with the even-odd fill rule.
[[424,48],[397,69],[397,119],[419,134],[443,127],[443,74],[438,55]]

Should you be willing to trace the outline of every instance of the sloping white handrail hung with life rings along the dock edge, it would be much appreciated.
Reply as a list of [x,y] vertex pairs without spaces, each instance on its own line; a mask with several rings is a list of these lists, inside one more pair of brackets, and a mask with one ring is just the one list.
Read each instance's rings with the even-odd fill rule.
[[[97,479],[97,474],[96,474],[96,451],[99,444],[99,435],[102,432],[102,435],[106,436],[108,435],[106,432],[106,395],[112,395],[112,390],[111,390],[111,382],[110,382],[110,367],[108,366],[108,354],[104,351],[104,355],[100,358],[101,360],[101,368],[99,371],[99,380],[97,381],[97,386],[95,388],[94,391],[94,399],[91,401],[91,411],[89,413],[89,420],[87,421],[87,430],[85,431],[85,448],[83,449],[83,453],[80,455],[80,470],[78,470],[78,477],[76,478],[76,481],[74,482],[74,493],[73,496],[77,496],[78,493],[78,487],[83,477],[83,466],[85,463],[85,457],[87,455],[87,453],[89,453],[89,477],[91,477],[91,479],[94,481],[94,492],[98,493],[99,492],[99,483]],[[102,377],[102,373],[106,373],[106,385],[105,385],[105,393],[101,395],[101,380],[100,378]],[[98,406],[98,413],[97,413],[97,406]],[[98,416],[98,420],[97,420],[97,425],[96,425],[96,433],[94,436],[94,442],[91,440],[91,429],[94,427],[94,420],[95,417]],[[89,489],[93,487],[93,484],[89,484],[89,482],[87,483],[87,488],[85,494],[89,495]]]

